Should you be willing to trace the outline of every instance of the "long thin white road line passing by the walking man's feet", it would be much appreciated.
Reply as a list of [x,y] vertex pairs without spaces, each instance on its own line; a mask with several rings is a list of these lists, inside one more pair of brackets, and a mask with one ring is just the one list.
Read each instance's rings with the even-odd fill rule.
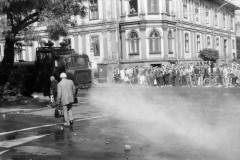
[[[98,118],[103,118],[103,117],[107,117],[107,116],[96,116],[96,117],[90,117],[90,118],[79,118],[79,119],[76,119],[74,121],[86,121],[86,120],[98,119]],[[42,125],[42,126],[24,128],[24,129],[19,129],[19,130],[14,130],[14,131],[2,132],[2,133],[0,133],[0,136],[11,134],[11,133],[15,133],[15,132],[28,131],[28,130],[38,129],[38,128],[56,126],[58,124],[62,124],[62,123],[55,123],[55,124],[49,124],[49,125]]]

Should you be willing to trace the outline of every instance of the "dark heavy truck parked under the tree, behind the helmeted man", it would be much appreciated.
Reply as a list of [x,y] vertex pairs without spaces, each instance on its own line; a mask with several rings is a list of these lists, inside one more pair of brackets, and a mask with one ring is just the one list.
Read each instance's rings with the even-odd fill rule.
[[[66,47],[38,47],[35,62],[18,62],[31,70],[34,76],[34,87],[28,86],[28,92],[49,94],[50,76],[60,81],[60,74],[65,72],[68,79],[73,80],[76,89],[88,89],[92,86],[92,72],[89,57],[79,55]],[[32,83],[26,84],[30,85]],[[33,85],[33,84],[32,84]]]

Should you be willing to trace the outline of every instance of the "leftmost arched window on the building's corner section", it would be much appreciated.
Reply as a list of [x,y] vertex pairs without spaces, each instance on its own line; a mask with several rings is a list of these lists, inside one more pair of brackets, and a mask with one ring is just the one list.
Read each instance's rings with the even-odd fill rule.
[[129,34],[129,48],[129,54],[139,54],[139,37],[135,31]]

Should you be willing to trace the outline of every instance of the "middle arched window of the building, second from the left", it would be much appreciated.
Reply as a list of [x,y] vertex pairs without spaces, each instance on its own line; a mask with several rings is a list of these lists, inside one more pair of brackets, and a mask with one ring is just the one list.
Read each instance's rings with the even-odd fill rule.
[[161,53],[161,36],[156,30],[149,35],[149,52],[150,54]]

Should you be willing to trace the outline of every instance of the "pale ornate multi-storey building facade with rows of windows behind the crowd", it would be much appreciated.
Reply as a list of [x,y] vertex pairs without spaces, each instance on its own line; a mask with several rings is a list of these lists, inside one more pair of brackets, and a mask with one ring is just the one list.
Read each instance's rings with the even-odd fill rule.
[[[213,48],[220,60],[236,58],[235,5],[225,0],[88,0],[88,16],[66,41],[79,54],[88,54],[93,69],[106,65],[149,66],[176,61],[200,61],[199,51]],[[37,27],[47,41],[45,27]],[[0,56],[4,42],[0,41]],[[23,47],[32,61],[36,47]]]

